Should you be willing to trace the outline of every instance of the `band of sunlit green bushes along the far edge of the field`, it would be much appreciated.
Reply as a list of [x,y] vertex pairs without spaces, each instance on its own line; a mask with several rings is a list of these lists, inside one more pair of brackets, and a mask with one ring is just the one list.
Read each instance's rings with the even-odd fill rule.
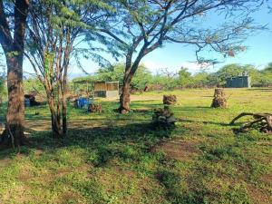
[[[236,63],[227,64],[216,73],[201,71],[191,74],[187,68],[180,68],[179,77],[167,73],[151,74],[151,72],[141,65],[132,79],[131,88],[143,90],[146,85],[154,90],[173,90],[182,88],[207,88],[217,85],[226,85],[227,79],[248,73],[251,77],[252,86],[268,86],[272,84],[272,64],[268,64],[263,70],[257,70],[251,64],[240,65]],[[74,80],[92,79],[93,81],[118,81],[122,84],[124,65],[115,63],[112,66],[99,69],[98,73],[88,77],[80,77]]]

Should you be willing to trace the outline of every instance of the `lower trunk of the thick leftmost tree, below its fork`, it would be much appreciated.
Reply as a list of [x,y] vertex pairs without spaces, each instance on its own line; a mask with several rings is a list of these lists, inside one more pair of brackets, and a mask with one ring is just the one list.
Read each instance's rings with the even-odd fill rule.
[[[20,60],[20,59],[19,59]],[[24,136],[24,90],[22,65],[16,56],[9,57],[7,64],[8,107],[5,131],[1,144],[7,147],[20,147],[27,143]]]

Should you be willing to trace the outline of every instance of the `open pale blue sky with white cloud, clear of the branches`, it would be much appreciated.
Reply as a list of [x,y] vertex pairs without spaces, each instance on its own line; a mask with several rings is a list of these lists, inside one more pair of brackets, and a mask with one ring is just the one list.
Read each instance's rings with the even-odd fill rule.
[[[263,8],[253,15],[257,24],[267,24],[270,31],[258,32],[254,36],[249,36],[244,45],[248,46],[248,50],[243,53],[238,53],[235,57],[219,58],[222,63],[216,66],[210,66],[208,71],[215,72],[219,67],[227,63],[242,63],[254,64],[258,69],[264,68],[267,63],[272,62],[272,14],[268,14],[267,9]],[[212,19],[212,24],[220,23],[219,16],[210,15],[209,20]],[[218,22],[217,22],[218,21]],[[202,53],[206,58],[218,58],[216,53]],[[198,73],[201,68],[196,61],[195,48],[192,46],[184,46],[181,44],[165,44],[162,48],[155,50],[145,56],[141,63],[145,64],[152,73],[157,73],[158,70],[168,68],[171,71],[178,71],[181,66],[189,68],[189,72]],[[90,60],[83,60],[83,68],[88,73],[94,73],[98,65],[92,63]],[[121,60],[122,62],[122,60]],[[112,61],[113,63],[113,61]],[[75,64],[72,73],[81,72]]]

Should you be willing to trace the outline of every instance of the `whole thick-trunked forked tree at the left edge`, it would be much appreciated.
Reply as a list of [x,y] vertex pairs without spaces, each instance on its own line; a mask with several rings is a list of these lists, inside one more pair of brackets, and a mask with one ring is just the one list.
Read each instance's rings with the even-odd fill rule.
[[[24,33],[29,2],[0,0],[0,44],[7,67],[8,108],[3,145],[19,147],[25,144],[23,56]],[[10,18],[11,17],[11,18]]]

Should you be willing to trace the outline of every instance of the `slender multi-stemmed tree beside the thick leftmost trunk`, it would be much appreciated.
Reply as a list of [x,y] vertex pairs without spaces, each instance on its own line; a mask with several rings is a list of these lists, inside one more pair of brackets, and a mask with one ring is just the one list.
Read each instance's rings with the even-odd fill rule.
[[93,31],[102,6],[95,0],[38,0],[30,9],[25,55],[44,84],[54,138],[64,138],[67,133],[67,73],[71,58],[90,53],[76,46],[86,30]]

